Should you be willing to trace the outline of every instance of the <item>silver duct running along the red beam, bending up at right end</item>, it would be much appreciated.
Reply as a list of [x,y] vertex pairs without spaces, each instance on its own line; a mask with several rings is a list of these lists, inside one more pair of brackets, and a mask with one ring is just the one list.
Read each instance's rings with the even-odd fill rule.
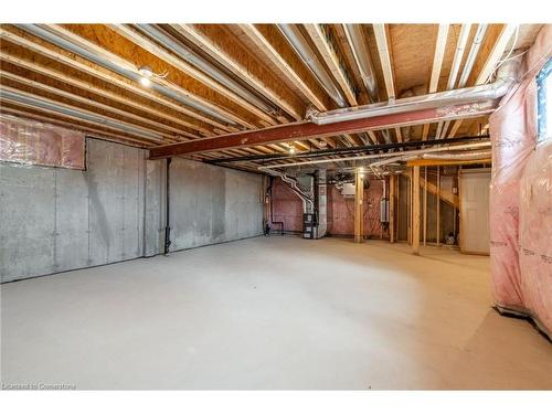
[[[497,79],[488,85],[466,87],[434,94],[396,99],[393,103],[380,103],[355,108],[335,109],[326,113],[310,112],[308,118],[318,125],[333,124],[353,119],[373,118],[382,115],[404,114],[422,109],[440,108],[446,112],[454,105],[470,105],[476,110],[481,104],[493,103],[513,86],[521,60],[507,61],[500,66]],[[496,104],[495,104],[496,105]]]

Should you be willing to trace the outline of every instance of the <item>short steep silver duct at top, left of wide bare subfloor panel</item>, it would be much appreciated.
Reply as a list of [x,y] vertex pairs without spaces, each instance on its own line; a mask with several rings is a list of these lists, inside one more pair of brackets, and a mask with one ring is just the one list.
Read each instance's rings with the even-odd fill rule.
[[343,29],[347,35],[347,40],[352,49],[352,55],[359,67],[360,76],[362,83],[368,91],[368,96],[370,102],[378,102],[378,79],[375,77],[375,71],[368,52],[368,45],[362,35],[362,28],[360,24],[343,24]]

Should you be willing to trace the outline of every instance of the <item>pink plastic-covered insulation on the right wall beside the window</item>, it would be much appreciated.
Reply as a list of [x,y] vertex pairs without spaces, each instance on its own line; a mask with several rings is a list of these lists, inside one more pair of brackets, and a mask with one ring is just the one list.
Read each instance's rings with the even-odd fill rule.
[[[537,142],[535,75],[550,59],[551,35],[551,26],[544,25],[535,43],[524,56],[520,71],[520,83],[502,98],[499,109],[490,116],[492,177],[489,205],[490,270],[496,302],[501,308],[533,315],[540,318],[542,323],[548,320],[548,329],[551,328],[550,299],[545,305],[540,294],[535,294],[535,290],[542,290],[542,286],[539,284],[542,284],[543,278],[535,276],[534,267],[530,270],[531,266],[524,254],[520,258],[520,252],[523,253],[523,247],[520,251],[520,245],[529,243],[531,244],[529,251],[533,252],[544,252],[550,248],[550,243],[548,243],[550,240],[546,241],[544,236],[532,242],[526,240],[531,232],[530,221],[534,220],[534,214],[539,215],[539,211],[533,203],[524,204],[521,190],[526,185],[526,172],[531,176],[550,173],[550,169],[539,169],[540,172],[538,172],[534,170],[538,166],[533,163],[542,161],[542,158],[539,157],[545,158],[540,152],[545,151],[545,149],[534,151]],[[537,155],[538,152],[540,156]],[[526,178],[522,179],[522,177]],[[539,177],[543,180],[542,176]],[[539,187],[539,191],[544,189],[545,184]],[[550,192],[550,187],[548,191]],[[540,211],[550,214],[552,209],[550,197],[540,195]],[[542,231],[550,232],[550,226],[544,226],[545,217],[540,216],[538,220],[543,225]],[[526,229],[526,234],[520,232],[520,230]],[[534,243],[539,243],[539,245]],[[541,245],[542,243],[544,245]],[[550,275],[550,268],[548,270],[545,268],[550,264],[541,261],[541,266],[543,267],[539,268],[538,275],[546,274],[546,272]],[[528,272],[532,275],[529,275]],[[535,282],[537,277],[540,277],[539,283]],[[549,298],[551,282],[549,277],[548,290],[542,290],[543,293],[548,291]]]

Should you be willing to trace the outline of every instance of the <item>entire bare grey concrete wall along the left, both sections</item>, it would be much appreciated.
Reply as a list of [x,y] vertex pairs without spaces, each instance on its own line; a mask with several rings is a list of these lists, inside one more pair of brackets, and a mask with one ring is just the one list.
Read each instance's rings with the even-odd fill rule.
[[[0,279],[161,253],[166,161],[87,139],[86,171],[0,162]],[[174,159],[172,250],[262,234],[261,176]]]

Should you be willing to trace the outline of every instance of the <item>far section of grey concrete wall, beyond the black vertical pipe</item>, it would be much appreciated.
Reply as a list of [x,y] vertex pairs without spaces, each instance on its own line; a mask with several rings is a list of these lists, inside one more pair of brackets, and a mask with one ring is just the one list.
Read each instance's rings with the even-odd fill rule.
[[262,176],[173,158],[170,184],[171,251],[263,233]]

